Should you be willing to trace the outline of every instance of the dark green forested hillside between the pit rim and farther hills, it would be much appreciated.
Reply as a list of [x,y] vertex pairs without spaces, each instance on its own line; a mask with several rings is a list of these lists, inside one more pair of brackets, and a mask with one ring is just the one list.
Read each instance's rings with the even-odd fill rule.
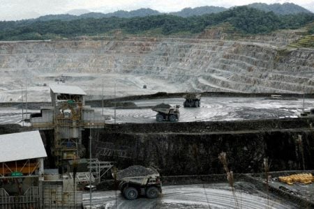
[[42,40],[56,37],[96,35],[122,30],[137,34],[156,30],[163,35],[174,33],[200,33],[204,29],[229,22],[237,31],[247,34],[269,33],[277,29],[297,29],[314,21],[313,13],[275,15],[246,6],[232,8],[221,13],[193,17],[154,15],[146,17],[86,18],[80,20],[0,22],[0,40]]

